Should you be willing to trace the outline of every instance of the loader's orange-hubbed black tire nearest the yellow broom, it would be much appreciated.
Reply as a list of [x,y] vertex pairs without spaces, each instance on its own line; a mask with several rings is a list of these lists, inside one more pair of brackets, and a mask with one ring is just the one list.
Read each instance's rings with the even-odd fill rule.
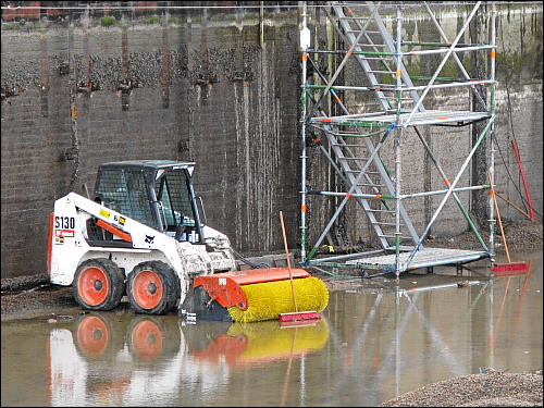
[[169,264],[146,261],[132,270],[126,292],[137,313],[165,314],[180,301],[180,279]]

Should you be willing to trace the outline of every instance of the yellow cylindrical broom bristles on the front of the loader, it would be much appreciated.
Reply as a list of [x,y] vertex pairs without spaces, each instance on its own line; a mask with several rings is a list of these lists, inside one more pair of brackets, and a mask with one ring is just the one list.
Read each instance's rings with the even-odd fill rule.
[[[329,289],[318,277],[301,277],[293,281],[298,311],[322,311],[329,304]],[[277,320],[281,313],[296,311],[290,282],[272,281],[240,286],[247,298],[248,308],[227,308],[235,322],[259,322]]]

